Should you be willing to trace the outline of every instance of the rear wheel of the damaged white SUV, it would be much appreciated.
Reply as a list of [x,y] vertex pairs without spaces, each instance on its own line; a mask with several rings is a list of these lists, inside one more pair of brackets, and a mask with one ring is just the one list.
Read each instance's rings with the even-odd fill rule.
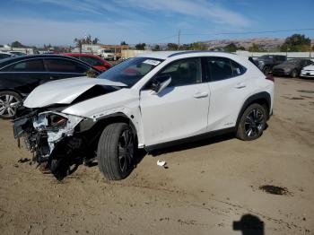
[[255,103],[251,104],[243,112],[237,128],[237,138],[243,141],[251,141],[263,135],[266,126],[266,109]]

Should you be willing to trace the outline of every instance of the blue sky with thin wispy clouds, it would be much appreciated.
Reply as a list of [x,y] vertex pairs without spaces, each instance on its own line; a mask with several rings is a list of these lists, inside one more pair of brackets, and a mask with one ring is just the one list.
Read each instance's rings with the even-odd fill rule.
[[180,43],[314,39],[313,9],[314,0],[0,0],[0,44],[69,46],[89,34],[102,44],[168,43],[179,30]]

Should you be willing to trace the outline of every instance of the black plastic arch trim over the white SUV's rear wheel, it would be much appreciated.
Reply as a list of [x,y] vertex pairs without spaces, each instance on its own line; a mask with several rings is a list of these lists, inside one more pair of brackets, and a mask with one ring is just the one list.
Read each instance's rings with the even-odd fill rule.
[[245,109],[247,109],[253,103],[257,103],[257,104],[260,104],[261,106],[264,106],[266,108],[266,114],[267,114],[266,119],[269,118],[270,109],[271,109],[271,97],[268,92],[262,91],[262,92],[249,96],[249,98],[244,101],[242,108],[240,109],[238,118],[237,118],[236,126],[239,125],[240,118],[242,117]]

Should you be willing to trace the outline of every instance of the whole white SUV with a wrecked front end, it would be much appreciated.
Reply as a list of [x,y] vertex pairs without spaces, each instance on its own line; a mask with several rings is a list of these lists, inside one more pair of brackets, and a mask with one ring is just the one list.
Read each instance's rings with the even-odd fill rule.
[[155,52],[98,78],[40,85],[17,110],[13,130],[58,179],[75,162],[95,158],[106,178],[122,179],[141,148],[228,132],[258,138],[272,114],[273,94],[272,77],[247,58]]

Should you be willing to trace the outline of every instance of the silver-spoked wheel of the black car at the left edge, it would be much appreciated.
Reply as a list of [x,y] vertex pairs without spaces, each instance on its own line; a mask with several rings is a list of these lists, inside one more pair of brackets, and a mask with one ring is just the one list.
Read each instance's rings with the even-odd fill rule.
[[0,91],[0,118],[12,119],[16,108],[22,102],[22,97],[13,91]]

